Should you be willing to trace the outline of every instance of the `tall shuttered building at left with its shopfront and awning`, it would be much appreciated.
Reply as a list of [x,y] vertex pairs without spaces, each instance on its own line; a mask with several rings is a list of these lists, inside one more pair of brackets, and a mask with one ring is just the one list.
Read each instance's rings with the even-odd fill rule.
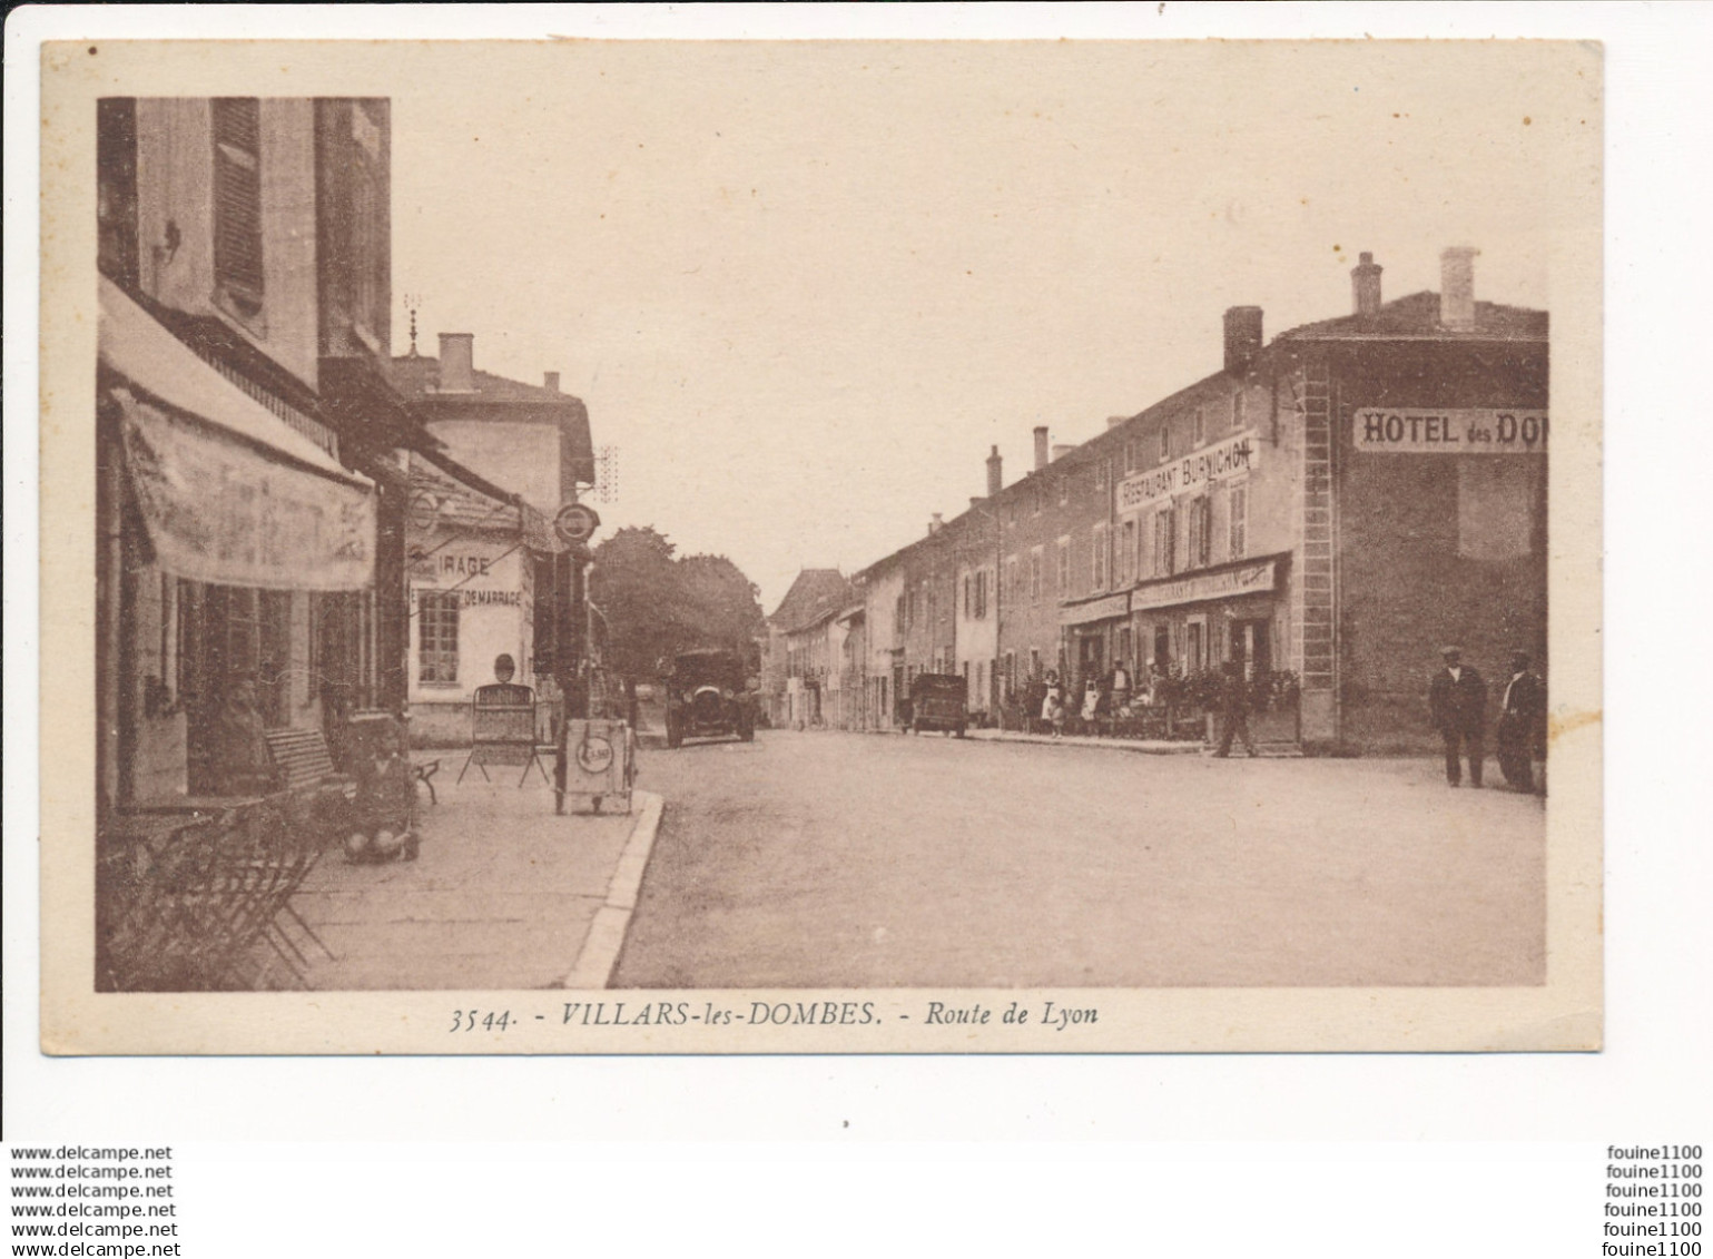
[[389,104],[103,99],[98,800],[219,788],[245,687],[336,742],[403,709]]

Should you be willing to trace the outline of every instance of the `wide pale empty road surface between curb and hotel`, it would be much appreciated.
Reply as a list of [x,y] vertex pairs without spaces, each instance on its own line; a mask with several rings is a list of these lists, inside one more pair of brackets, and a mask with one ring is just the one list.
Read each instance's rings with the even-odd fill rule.
[[615,987],[1543,980],[1542,803],[1430,761],[762,731],[642,773]]

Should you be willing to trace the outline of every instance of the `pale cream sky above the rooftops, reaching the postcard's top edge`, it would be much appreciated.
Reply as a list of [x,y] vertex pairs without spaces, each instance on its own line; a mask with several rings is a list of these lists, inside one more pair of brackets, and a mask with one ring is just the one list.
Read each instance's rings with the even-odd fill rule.
[[[385,63],[380,63],[385,62]],[[1266,336],[1439,288],[1550,308],[1598,128],[1557,46],[557,43],[377,58],[394,348],[588,403],[610,528],[730,555],[771,612]],[[1591,82],[1591,81],[1590,81]],[[1581,132],[1581,134],[1578,134]],[[1598,147],[1591,147],[1598,152]]]

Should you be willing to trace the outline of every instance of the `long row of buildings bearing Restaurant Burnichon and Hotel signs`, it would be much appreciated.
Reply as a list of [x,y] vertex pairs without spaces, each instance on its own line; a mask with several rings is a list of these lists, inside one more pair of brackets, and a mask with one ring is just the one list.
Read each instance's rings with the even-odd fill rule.
[[1490,677],[1543,661],[1547,315],[1477,301],[1475,257],[1388,303],[1364,254],[1352,313],[1266,343],[1233,307],[1221,370],[1079,445],[1036,428],[1012,485],[995,447],[985,497],[855,579],[872,716],[947,665],[994,714],[1048,670],[1077,694],[1237,661],[1288,683],[1304,747],[1405,750],[1446,642]]

